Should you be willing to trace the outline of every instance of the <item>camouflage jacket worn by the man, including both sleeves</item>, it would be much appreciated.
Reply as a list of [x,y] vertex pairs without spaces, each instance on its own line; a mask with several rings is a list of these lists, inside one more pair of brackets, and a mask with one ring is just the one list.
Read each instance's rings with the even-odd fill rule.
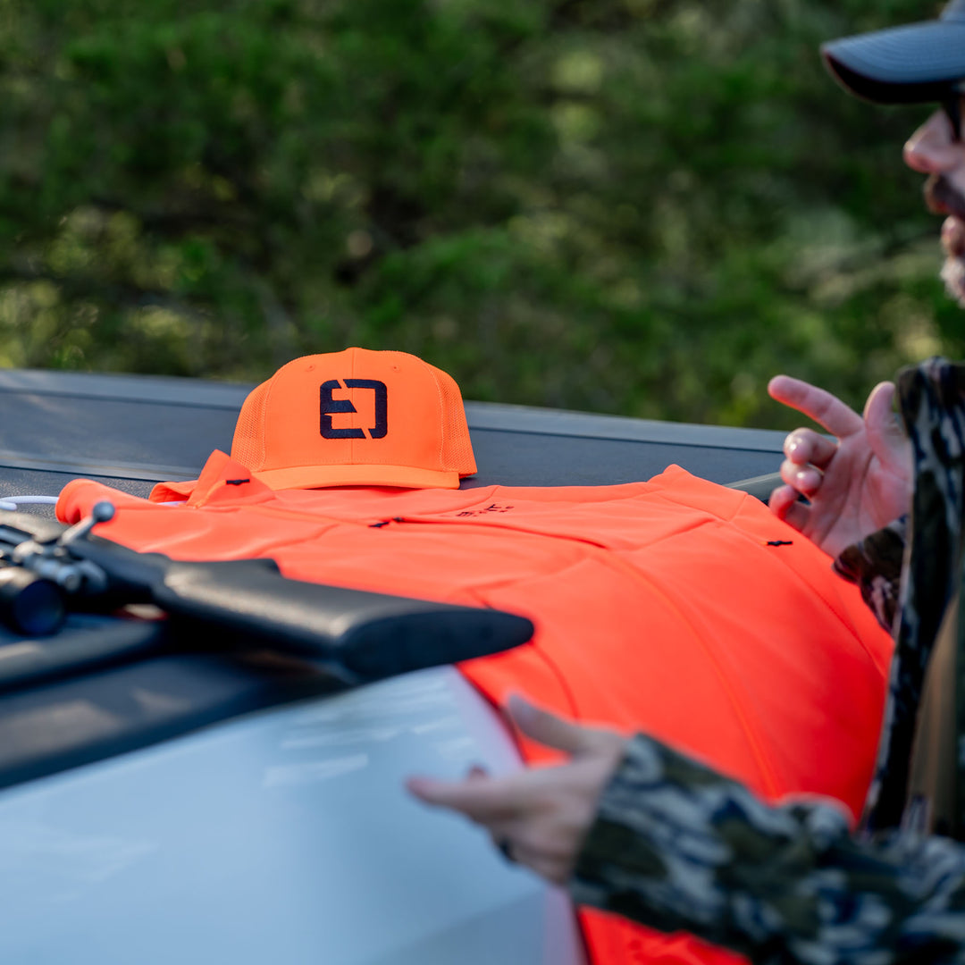
[[[836,564],[896,638],[863,831],[852,831],[836,802],[765,804],[639,735],[578,857],[570,884],[577,901],[663,931],[693,932],[754,962],[965,965],[965,845],[931,833],[965,837],[965,794],[956,793],[965,773],[965,745],[958,744],[965,726],[956,718],[965,700],[956,700],[956,688],[965,695],[965,684],[955,672],[965,670],[965,659],[955,663],[965,654],[956,619],[965,366],[935,359],[901,372],[898,394],[916,463],[907,538],[896,524]],[[951,664],[934,675],[935,684],[928,665],[940,651]],[[944,688],[944,703],[933,699],[936,688]],[[937,763],[910,767],[914,758],[934,758],[934,733],[924,746],[916,740],[929,703],[939,706],[953,739]],[[923,773],[943,784],[938,813]]]

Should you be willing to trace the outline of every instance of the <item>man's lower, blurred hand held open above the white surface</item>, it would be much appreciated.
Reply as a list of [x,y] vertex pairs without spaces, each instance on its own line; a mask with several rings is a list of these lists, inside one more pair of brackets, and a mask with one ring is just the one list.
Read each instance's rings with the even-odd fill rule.
[[474,767],[461,782],[410,778],[406,786],[427,804],[452,808],[482,824],[512,861],[561,885],[573,871],[625,739],[572,724],[519,697],[510,697],[507,709],[520,731],[565,751],[571,760],[501,778]]

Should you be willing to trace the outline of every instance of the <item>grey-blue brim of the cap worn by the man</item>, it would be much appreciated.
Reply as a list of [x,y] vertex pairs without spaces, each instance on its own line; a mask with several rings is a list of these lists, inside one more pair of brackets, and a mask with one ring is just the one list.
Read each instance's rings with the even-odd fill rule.
[[965,20],[931,20],[844,37],[821,47],[852,94],[879,104],[943,100],[965,78]]

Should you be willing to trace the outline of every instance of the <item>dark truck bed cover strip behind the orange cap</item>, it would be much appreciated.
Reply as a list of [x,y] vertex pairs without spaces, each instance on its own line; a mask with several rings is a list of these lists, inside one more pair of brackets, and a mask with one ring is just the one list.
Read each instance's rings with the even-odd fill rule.
[[[231,449],[251,385],[146,375],[0,371],[0,497],[85,476],[146,494]],[[464,485],[604,485],[670,463],[715,483],[772,473],[784,433],[467,402],[479,473]]]

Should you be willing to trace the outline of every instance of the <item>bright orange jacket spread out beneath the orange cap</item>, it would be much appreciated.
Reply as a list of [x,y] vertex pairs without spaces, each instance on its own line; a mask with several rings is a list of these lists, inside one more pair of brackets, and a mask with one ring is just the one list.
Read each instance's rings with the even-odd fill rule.
[[[672,466],[615,486],[267,489],[227,455],[155,505],[65,488],[74,522],[184,560],[271,557],[291,577],[523,614],[532,644],[460,667],[494,703],[526,693],[583,721],[647,731],[774,800],[832,795],[858,813],[891,642],[830,560],[758,500]],[[529,759],[546,758],[533,746]],[[689,936],[595,912],[597,962],[725,962]]]

